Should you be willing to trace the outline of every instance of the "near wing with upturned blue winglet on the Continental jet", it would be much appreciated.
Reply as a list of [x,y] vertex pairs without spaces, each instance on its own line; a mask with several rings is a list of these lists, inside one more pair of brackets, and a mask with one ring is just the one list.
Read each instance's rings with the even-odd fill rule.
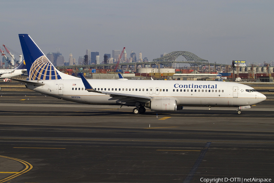
[[114,92],[108,92],[108,91],[96,91],[92,88],[90,83],[86,80],[86,78],[81,74],[81,79],[83,81],[83,84],[87,91],[89,92],[96,92],[96,93],[102,93],[106,95],[110,95],[112,98],[109,100],[120,100],[120,101],[126,101],[126,100],[151,100],[153,97],[150,96],[143,96],[143,95],[131,95],[131,94],[125,94],[125,93],[114,93]]

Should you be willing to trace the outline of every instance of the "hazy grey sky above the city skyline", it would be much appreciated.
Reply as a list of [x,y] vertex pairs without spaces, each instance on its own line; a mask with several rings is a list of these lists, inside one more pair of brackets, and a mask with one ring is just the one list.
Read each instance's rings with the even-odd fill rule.
[[[192,52],[210,63],[274,60],[274,1],[239,0],[5,0],[0,44],[22,53],[29,34],[47,54],[78,61],[86,49],[104,54],[126,47],[149,61],[163,53]],[[16,56],[16,59],[19,59]]]

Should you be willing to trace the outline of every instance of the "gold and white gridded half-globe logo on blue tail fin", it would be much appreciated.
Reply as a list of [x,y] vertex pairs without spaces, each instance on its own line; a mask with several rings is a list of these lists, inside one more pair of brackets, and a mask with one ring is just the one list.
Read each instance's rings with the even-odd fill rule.
[[52,63],[46,56],[40,56],[30,67],[30,80],[54,80],[61,79]]

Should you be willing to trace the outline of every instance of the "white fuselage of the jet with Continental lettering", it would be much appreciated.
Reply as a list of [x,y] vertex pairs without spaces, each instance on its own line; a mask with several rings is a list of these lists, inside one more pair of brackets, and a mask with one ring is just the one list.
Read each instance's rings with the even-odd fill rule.
[[[43,86],[26,84],[27,88],[45,95],[87,104],[121,105],[110,95],[85,90],[81,79],[40,80]],[[220,81],[161,80],[88,80],[96,91],[172,98],[180,106],[250,106],[262,102],[265,95],[239,83]],[[152,99],[152,100],[153,100]],[[142,102],[148,102],[144,99]]]

